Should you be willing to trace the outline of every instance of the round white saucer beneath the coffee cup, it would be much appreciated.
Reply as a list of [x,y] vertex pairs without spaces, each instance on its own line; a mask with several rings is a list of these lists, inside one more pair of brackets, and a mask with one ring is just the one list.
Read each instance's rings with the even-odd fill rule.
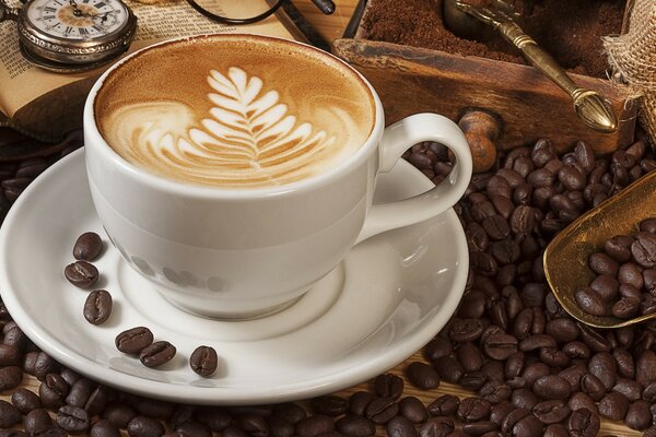
[[[406,162],[380,175],[376,201],[425,191],[432,184]],[[63,277],[72,245],[86,231],[106,250],[95,265],[112,293],[107,322],[82,316],[87,292]],[[354,247],[316,288],[258,320],[216,321],[173,307],[133,272],[109,243],[87,188],[84,152],[55,164],[21,196],[0,229],[0,291],[13,319],[60,363],[106,385],[187,403],[257,404],[325,394],[370,379],[429,342],[462,295],[465,233],[453,210]],[[120,331],[147,326],[177,346],[159,369],[119,353]],[[211,378],[188,366],[195,347],[213,346]]]

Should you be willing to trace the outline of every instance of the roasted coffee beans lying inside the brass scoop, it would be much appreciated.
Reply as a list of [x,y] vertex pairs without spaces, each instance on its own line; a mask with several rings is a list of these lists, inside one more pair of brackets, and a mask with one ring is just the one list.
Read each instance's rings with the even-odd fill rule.
[[587,314],[631,319],[656,312],[656,218],[636,231],[610,238],[588,258],[596,276],[575,294]]

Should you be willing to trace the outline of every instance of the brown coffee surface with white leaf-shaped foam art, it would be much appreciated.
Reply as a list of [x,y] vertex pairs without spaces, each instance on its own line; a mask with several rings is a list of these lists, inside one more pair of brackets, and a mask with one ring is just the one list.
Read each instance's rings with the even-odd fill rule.
[[107,76],[95,115],[112,147],[147,172],[256,188],[348,160],[375,107],[355,73],[312,48],[223,35],[141,52]]

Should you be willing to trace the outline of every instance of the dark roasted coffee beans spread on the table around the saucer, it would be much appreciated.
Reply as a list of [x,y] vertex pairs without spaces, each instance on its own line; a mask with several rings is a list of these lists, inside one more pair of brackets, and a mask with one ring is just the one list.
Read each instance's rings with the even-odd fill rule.
[[[434,181],[450,170],[438,144],[418,144],[406,157]],[[10,430],[22,421],[26,434],[51,436],[591,437],[607,417],[656,437],[656,332],[574,321],[549,292],[541,262],[555,233],[654,168],[643,141],[595,160],[585,144],[559,157],[541,140],[475,175],[456,206],[471,255],[457,314],[423,349],[425,363],[349,397],[220,408],[118,392],[39,352],[0,307],[0,390],[12,392],[11,403],[0,402],[0,434],[23,435]],[[38,395],[16,389],[23,373],[40,381]],[[441,393],[442,381],[471,394]],[[409,395],[409,386],[431,401]]]

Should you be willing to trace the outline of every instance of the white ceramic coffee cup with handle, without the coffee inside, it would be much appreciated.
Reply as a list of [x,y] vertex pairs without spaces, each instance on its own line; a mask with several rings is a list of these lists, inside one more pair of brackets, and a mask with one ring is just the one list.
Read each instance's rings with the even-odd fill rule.
[[[249,318],[283,308],[338,265],[356,243],[452,208],[471,177],[469,146],[453,121],[419,114],[385,128],[380,101],[364,78],[375,102],[372,132],[355,154],[318,176],[256,189],[194,186],[154,176],[120,157],[96,126],[94,99],[115,68],[99,78],[84,108],[93,202],[126,261],[168,300],[191,312]],[[377,174],[422,141],[440,142],[454,153],[448,177],[412,199],[372,204]]]

